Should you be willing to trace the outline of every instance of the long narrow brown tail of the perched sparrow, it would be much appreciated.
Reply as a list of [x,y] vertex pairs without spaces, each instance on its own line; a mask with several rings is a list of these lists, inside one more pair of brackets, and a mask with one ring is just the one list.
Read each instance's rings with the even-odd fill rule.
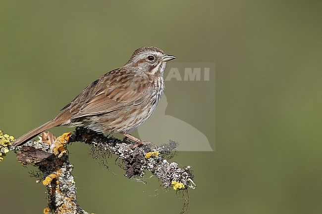
[[61,122],[59,122],[57,120],[51,120],[51,121],[47,122],[46,124],[43,124],[40,127],[34,128],[31,131],[25,133],[24,135],[22,135],[21,137],[16,139],[12,143],[12,145],[13,146],[20,146],[20,145],[26,143],[28,140],[34,138],[35,136],[37,136],[38,134],[40,134],[44,130],[46,130],[48,128],[55,127],[55,126],[59,126],[60,124],[61,124]]

